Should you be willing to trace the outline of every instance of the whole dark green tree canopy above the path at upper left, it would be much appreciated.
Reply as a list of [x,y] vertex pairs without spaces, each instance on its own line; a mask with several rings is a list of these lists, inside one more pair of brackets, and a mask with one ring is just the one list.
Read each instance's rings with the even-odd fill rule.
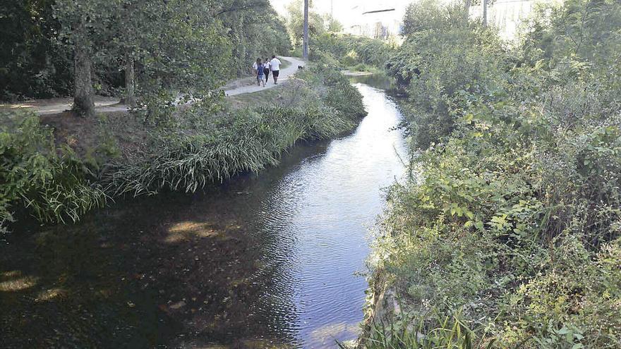
[[128,82],[119,72],[135,61],[136,92],[153,114],[176,92],[209,96],[257,56],[291,48],[267,0],[13,2],[0,10],[1,100],[70,95],[83,52],[97,94],[119,94]]

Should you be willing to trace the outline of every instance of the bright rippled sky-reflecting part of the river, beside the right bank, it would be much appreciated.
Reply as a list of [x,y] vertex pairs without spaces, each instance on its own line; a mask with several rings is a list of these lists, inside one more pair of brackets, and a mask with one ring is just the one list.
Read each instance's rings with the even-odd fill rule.
[[396,106],[381,90],[357,87],[368,116],[353,134],[287,173],[256,222],[266,242],[260,273],[273,278],[260,307],[304,348],[332,348],[334,338],[356,336],[367,284],[354,273],[364,269],[368,227],[384,205],[381,190],[404,173],[404,140],[391,130],[401,118]]

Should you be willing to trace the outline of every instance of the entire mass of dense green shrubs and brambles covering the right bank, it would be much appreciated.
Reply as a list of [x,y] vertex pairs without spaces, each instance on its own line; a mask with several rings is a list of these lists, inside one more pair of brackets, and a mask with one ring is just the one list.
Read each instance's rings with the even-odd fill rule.
[[372,285],[399,307],[366,348],[621,345],[620,11],[541,8],[507,49],[458,6],[409,8],[387,66],[416,174],[387,195]]

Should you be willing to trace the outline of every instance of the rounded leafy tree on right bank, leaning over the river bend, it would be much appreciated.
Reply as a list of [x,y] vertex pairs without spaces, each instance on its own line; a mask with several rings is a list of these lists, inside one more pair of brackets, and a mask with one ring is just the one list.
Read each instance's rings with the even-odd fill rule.
[[[428,147],[450,135],[466,94],[493,98],[493,81],[503,78],[507,57],[498,35],[468,22],[457,5],[433,1],[409,6],[406,42],[386,63],[387,71],[411,96],[409,123],[414,147]],[[426,96],[426,98],[420,98]]]

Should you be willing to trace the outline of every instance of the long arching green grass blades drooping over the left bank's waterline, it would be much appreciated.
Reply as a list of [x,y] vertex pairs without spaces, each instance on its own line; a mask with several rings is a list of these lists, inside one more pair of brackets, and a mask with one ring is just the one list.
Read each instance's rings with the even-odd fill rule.
[[325,139],[351,129],[352,121],[330,107],[279,106],[242,109],[222,116],[231,122],[210,133],[168,138],[156,152],[133,164],[117,163],[104,173],[111,195],[152,195],[159,190],[195,192],[241,172],[278,163],[299,140]]

